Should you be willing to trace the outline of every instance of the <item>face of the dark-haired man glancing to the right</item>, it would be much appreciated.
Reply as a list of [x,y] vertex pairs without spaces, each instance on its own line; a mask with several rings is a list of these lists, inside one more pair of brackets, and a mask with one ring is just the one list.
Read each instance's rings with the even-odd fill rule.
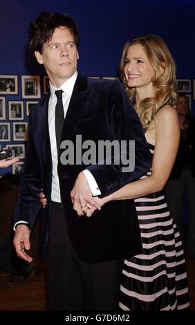
[[44,44],[42,53],[35,51],[39,64],[44,64],[51,84],[59,88],[77,70],[79,55],[75,40],[66,27],[55,29],[52,39]]

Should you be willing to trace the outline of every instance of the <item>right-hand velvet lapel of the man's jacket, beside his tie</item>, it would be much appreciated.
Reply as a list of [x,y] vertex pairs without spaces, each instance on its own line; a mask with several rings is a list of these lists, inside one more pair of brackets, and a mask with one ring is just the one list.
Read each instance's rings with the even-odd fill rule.
[[88,94],[87,77],[78,74],[71,96],[71,101],[68,106],[68,111],[66,113],[66,118],[64,120],[62,140],[71,138],[71,133],[73,133],[75,123],[80,118],[80,115],[82,115],[82,109],[84,109],[84,104]]

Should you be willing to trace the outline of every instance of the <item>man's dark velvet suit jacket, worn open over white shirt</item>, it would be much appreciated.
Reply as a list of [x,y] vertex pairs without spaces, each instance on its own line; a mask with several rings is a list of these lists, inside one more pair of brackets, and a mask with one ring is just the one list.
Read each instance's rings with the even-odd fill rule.
[[[48,198],[42,213],[42,248],[48,249],[50,225],[50,193],[52,160],[48,133],[48,99],[30,110],[28,121],[28,148],[15,209],[15,222],[28,221],[32,227],[41,204],[40,189]],[[82,140],[135,140],[134,171],[124,173],[120,165],[62,165],[58,164],[59,185],[64,216],[73,247],[80,259],[96,263],[129,257],[141,252],[140,231],[133,200],[113,201],[96,211],[91,218],[78,217],[73,210],[70,192],[77,175],[89,169],[102,195],[111,194],[123,185],[139,178],[151,167],[151,155],[139,118],[118,81],[93,80],[78,74],[71,102],[68,106],[62,140],[75,143]],[[64,150],[61,149],[61,153]],[[53,216],[55,217],[55,216]]]

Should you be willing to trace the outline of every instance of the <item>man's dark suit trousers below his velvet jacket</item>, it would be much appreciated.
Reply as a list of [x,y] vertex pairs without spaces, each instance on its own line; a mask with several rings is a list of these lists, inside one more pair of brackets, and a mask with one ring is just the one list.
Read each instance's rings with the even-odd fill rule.
[[81,261],[71,245],[65,213],[59,203],[52,203],[49,309],[118,310],[122,260],[95,264]]

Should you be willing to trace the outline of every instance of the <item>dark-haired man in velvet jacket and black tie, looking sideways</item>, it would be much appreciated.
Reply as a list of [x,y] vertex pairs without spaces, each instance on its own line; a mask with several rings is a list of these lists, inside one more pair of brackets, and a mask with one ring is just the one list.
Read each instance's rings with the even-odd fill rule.
[[[29,228],[41,207],[39,192],[43,189],[48,198],[42,243],[44,254],[48,251],[50,309],[84,310],[87,302],[91,310],[116,310],[121,259],[141,249],[135,207],[131,201],[109,203],[93,218],[82,216],[81,207],[95,205],[91,178],[102,195],[110,194],[145,174],[150,155],[138,116],[120,82],[88,80],[77,73],[78,46],[77,25],[68,15],[42,12],[30,24],[30,48],[46,68],[50,93],[30,110],[14,245],[21,258],[32,261],[26,253]],[[61,119],[60,107],[64,109]],[[99,140],[135,140],[136,168],[123,173],[120,165],[64,165],[63,141],[69,140],[77,154],[81,149],[77,135],[83,142],[93,140],[95,144]],[[93,195],[99,194],[98,188],[95,191]]]

